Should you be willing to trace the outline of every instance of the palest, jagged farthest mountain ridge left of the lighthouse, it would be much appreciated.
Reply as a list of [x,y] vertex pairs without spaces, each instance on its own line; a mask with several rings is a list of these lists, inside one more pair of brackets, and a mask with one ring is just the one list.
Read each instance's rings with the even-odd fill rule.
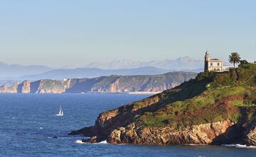
[[203,59],[193,59],[192,57],[178,57],[177,59],[165,59],[150,62],[132,62],[131,60],[122,59],[112,62],[92,62],[85,68],[100,69],[131,69],[144,66],[153,66],[160,69],[169,69],[172,71],[180,71],[183,69],[201,69],[204,66]]

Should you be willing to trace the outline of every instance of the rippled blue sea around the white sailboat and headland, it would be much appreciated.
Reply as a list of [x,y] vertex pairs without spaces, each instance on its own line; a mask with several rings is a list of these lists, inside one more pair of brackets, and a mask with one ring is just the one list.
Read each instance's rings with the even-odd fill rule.
[[[104,110],[147,96],[0,94],[0,156],[256,156],[256,149],[228,146],[79,144],[82,136],[67,135],[94,124]],[[63,117],[55,116],[60,105]]]

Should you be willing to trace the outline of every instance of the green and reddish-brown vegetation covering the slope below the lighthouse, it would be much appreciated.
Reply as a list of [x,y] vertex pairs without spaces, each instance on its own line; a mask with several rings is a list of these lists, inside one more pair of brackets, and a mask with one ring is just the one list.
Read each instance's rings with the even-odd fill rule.
[[[227,119],[240,121],[242,108],[256,107],[256,64],[242,64],[235,71],[236,74],[232,70],[204,72],[158,95],[165,98],[165,105],[144,112],[138,119],[139,124],[183,128]],[[248,116],[256,117],[254,113]]]

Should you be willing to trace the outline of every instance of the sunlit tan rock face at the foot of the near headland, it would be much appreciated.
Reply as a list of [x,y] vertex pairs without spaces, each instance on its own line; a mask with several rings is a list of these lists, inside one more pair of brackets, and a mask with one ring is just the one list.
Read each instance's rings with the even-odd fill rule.
[[212,144],[214,140],[227,132],[235,123],[224,120],[213,123],[191,125],[184,129],[170,127],[137,127],[129,124],[127,127],[114,129],[107,141],[112,144]]

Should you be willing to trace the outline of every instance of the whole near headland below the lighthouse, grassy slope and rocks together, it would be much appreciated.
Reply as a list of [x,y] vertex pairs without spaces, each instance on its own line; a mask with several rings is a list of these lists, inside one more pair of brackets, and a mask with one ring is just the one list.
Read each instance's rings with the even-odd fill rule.
[[256,145],[256,64],[196,79],[102,112],[92,127],[70,134],[112,144]]

